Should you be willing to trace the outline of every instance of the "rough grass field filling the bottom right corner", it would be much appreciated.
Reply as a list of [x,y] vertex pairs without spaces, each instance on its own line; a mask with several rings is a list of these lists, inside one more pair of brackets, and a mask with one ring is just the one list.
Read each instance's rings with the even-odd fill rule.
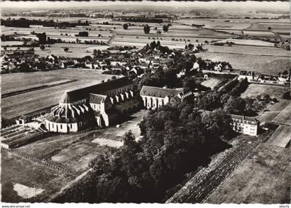
[[261,144],[205,202],[288,204],[290,162],[290,149]]

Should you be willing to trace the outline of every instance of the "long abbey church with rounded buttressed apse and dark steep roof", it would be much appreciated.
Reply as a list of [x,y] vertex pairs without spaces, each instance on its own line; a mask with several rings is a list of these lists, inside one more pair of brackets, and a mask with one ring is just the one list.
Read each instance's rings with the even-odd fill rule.
[[48,131],[69,133],[89,126],[111,126],[139,106],[128,77],[66,91],[45,121]]

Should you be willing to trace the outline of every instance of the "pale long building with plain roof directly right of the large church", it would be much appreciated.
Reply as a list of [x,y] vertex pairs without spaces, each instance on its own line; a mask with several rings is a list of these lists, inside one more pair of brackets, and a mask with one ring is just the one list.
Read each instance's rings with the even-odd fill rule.
[[148,109],[156,109],[168,104],[173,97],[179,97],[184,100],[193,95],[191,91],[184,89],[168,89],[153,86],[143,86],[140,95],[143,99],[143,106]]

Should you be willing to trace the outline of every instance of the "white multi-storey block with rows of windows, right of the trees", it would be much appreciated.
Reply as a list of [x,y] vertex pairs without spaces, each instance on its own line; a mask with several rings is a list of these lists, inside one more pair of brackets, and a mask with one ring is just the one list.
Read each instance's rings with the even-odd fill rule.
[[233,130],[247,135],[258,135],[260,122],[254,117],[230,114],[233,121]]

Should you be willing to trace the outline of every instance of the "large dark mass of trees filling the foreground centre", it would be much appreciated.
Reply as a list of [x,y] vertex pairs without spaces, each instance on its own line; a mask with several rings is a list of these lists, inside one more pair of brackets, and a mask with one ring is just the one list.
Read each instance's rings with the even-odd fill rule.
[[164,202],[187,173],[227,148],[232,130],[224,111],[174,102],[145,115],[141,140],[126,133],[120,149],[91,161],[91,174],[55,202]]

